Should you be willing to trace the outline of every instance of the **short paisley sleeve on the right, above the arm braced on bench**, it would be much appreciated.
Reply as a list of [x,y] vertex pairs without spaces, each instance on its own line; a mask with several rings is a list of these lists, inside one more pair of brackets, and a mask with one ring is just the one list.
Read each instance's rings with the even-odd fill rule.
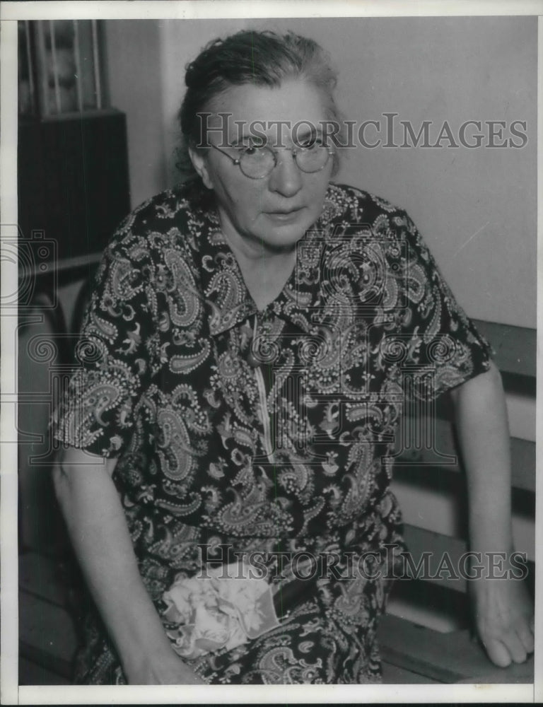
[[407,368],[411,363],[431,373],[424,397],[438,397],[489,370],[491,347],[457,303],[411,218],[400,212],[393,222],[406,258],[401,338]]

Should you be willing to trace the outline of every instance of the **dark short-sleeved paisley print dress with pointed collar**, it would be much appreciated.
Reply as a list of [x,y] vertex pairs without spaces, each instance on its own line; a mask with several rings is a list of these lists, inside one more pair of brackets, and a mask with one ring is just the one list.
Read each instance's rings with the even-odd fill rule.
[[[105,251],[55,416],[57,439],[117,458],[161,617],[163,592],[204,551],[262,553],[285,597],[293,554],[326,559],[279,602],[279,626],[192,660],[209,683],[380,680],[375,631],[404,550],[389,489],[404,406],[489,368],[404,211],[330,184],[297,250],[283,291],[257,311],[215,209],[187,187],[147,201]],[[378,571],[361,572],[361,558]],[[124,680],[91,609],[77,681]]]

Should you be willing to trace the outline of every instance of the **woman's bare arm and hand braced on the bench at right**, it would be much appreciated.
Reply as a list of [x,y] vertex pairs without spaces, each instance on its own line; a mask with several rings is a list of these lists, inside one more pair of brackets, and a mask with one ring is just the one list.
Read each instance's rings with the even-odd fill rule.
[[[470,549],[482,554],[494,576],[508,571],[513,552],[510,442],[501,375],[494,365],[451,391],[467,473]],[[485,573],[484,573],[485,574]],[[533,607],[524,581],[469,580],[479,638],[492,662],[506,667],[534,650]]]

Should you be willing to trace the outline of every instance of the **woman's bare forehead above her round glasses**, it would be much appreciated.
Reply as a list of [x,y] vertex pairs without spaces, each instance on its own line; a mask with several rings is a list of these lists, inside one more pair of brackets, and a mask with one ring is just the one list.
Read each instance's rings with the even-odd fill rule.
[[[319,88],[303,79],[285,81],[279,86],[230,86],[209,107],[209,127],[221,126],[230,139],[255,134],[273,137],[279,123],[281,133],[290,134],[298,124],[299,132],[318,129],[327,119],[325,97]],[[215,141],[215,140],[214,140]]]

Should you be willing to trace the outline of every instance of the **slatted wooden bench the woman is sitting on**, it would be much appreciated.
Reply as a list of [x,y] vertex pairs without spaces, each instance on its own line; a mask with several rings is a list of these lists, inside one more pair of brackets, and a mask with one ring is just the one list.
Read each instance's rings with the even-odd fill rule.
[[[496,350],[506,390],[522,390],[535,399],[535,331],[488,322],[477,322],[477,326]],[[440,411],[436,447],[445,455],[454,455],[446,413],[446,408]],[[530,524],[535,494],[535,443],[513,438],[511,447],[514,508]],[[409,450],[399,459],[395,484],[404,484],[404,488],[411,484],[414,493],[437,484],[462,496],[462,476],[457,464],[436,464],[432,450]],[[415,562],[424,551],[436,556],[446,551],[454,561],[466,549],[461,522],[458,534],[444,534],[420,527],[414,522],[416,518],[407,521],[405,536]],[[77,636],[67,608],[61,559],[39,549],[25,549],[20,556],[19,584],[20,684],[68,684]],[[383,617],[380,626],[385,683],[533,682],[533,658],[502,670],[472,642],[465,590],[465,581],[397,581],[390,613]],[[434,618],[439,619],[442,614],[454,617],[455,629],[443,633],[422,625],[423,621],[416,617],[421,612],[428,613],[428,608]]]

